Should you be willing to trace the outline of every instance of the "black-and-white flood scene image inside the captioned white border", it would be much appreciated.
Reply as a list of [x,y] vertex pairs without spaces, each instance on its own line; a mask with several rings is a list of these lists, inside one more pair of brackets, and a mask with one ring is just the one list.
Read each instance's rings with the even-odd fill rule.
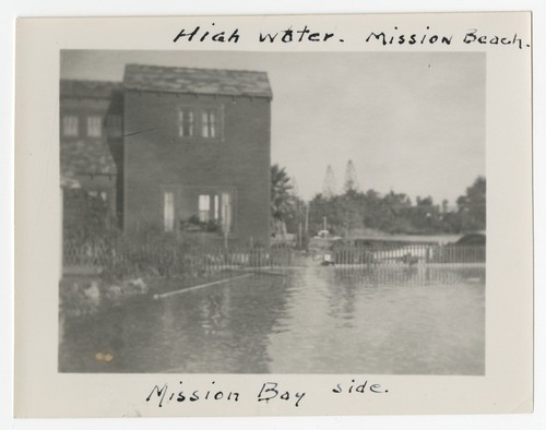
[[60,51],[63,373],[486,373],[486,53]]

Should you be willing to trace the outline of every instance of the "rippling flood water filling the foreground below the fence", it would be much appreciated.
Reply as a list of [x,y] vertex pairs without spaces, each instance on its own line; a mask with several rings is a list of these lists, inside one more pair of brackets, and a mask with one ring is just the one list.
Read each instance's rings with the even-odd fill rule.
[[484,374],[484,267],[307,267],[66,319],[64,372]]

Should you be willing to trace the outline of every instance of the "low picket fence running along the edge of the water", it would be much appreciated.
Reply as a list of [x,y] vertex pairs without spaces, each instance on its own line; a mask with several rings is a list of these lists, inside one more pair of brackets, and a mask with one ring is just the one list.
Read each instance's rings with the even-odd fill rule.
[[342,247],[311,259],[292,248],[188,248],[173,243],[64,243],[64,267],[99,267],[115,275],[149,273],[158,276],[221,270],[307,265],[416,265],[485,263],[484,246]]

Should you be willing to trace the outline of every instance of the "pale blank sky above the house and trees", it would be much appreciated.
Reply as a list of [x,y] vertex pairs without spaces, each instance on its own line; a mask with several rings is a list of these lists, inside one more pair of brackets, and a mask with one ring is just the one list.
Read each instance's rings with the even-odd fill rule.
[[126,63],[265,71],[272,162],[299,193],[337,188],[352,159],[360,189],[451,204],[485,176],[485,53],[66,51],[61,77],[121,81]]

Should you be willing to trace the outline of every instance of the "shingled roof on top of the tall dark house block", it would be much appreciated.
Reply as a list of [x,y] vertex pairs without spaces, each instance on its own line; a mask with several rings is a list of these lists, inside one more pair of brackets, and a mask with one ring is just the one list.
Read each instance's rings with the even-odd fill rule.
[[127,64],[128,89],[227,96],[272,97],[265,72]]

